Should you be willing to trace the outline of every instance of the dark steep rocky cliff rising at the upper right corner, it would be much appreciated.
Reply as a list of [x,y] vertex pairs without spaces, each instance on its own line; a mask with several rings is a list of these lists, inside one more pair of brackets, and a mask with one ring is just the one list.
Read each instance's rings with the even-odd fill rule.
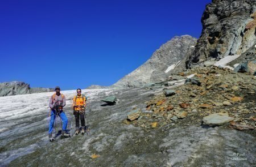
[[242,54],[256,42],[256,2],[254,0],[212,1],[206,6],[203,30],[187,67],[200,59]]

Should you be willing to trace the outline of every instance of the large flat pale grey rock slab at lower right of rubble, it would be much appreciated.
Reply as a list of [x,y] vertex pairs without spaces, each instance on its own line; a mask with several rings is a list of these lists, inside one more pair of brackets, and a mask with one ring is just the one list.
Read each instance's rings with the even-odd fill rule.
[[223,125],[233,120],[234,118],[228,117],[227,114],[223,113],[214,113],[203,118],[203,122],[206,125]]

